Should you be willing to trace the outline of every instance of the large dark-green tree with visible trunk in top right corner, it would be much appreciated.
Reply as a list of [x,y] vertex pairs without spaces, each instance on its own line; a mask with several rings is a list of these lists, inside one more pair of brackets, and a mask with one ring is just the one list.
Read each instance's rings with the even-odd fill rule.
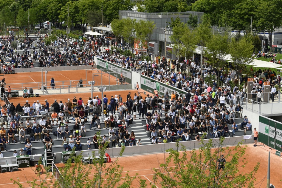
[[[266,8],[267,7],[267,8]],[[279,11],[282,9],[282,0],[260,1],[257,10],[257,27],[261,30],[268,31],[270,47],[272,46],[272,33],[278,27],[281,27],[282,19]],[[276,45],[276,44],[273,44]],[[270,48],[271,50],[271,48]]]

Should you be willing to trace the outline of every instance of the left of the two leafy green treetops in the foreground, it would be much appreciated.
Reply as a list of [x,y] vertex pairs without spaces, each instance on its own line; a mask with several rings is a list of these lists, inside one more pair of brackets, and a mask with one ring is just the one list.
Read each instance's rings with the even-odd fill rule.
[[[83,156],[80,154],[77,157],[73,155],[66,162],[64,167],[59,168],[61,175],[58,179],[52,177],[52,173],[47,173],[47,175],[42,178],[43,175],[38,175],[37,181],[28,181],[30,187],[35,188],[91,188],[91,187],[117,187],[117,188],[129,188],[131,187],[132,181],[137,180],[140,184],[140,188],[147,187],[146,181],[141,178],[137,178],[137,174],[133,177],[129,176],[128,173],[122,178],[123,167],[118,164],[118,159],[122,156],[125,147],[120,150],[120,155],[110,164],[106,165],[104,163],[104,156],[106,153],[106,146],[109,144],[107,141],[104,146],[102,146],[102,138],[100,133],[98,135],[98,143],[100,143],[100,149],[98,151],[98,156],[95,152],[92,152],[93,163],[83,164]],[[72,161],[75,161],[72,163]],[[94,172],[93,172],[94,171]],[[38,181],[39,179],[39,181]],[[48,179],[48,181],[46,181]],[[35,179],[36,180],[36,179]],[[17,184],[20,188],[23,186],[20,180],[13,180],[14,184]]]

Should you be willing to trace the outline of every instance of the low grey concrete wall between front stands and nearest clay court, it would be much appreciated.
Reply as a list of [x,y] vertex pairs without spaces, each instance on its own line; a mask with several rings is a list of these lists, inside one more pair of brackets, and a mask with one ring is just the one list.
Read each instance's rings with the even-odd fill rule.
[[[253,139],[243,139],[243,136],[235,136],[235,137],[227,137],[224,140],[224,146],[233,146],[238,144],[239,142],[243,142],[243,144],[250,144],[253,143]],[[252,137],[253,138],[253,137]],[[204,142],[208,142],[207,140],[204,140]],[[213,145],[216,147],[218,146],[219,138],[213,139]],[[199,141],[185,141],[181,142],[180,144],[183,144],[186,147],[186,150],[193,150],[199,149]],[[150,153],[159,153],[159,152],[165,152],[165,150],[168,150],[170,148],[173,149],[178,149],[180,148],[176,147],[176,143],[165,143],[165,144],[151,144],[151,145],[143,145],[143,146],[134,146],[134,147],[126,147],[123,155],[137,155],[137,154],[150,154]],[[111,156],[111,157],[117,157],[120,153],[121,148],[110,148],[106,152]],[[81,152],[83,153],[91,153],[93,151],[97,150],[84,150],[84,151],[77,151],[76,155],[79,155]],[[62,158],[62,153],[55,153],[55,163],[60,163],[61,158]]]

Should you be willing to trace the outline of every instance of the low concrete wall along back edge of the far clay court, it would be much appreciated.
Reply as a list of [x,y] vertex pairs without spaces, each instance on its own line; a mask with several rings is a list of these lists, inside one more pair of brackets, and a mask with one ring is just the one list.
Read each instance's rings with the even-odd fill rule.
[[[94,65],[93,68],[97,68],[97,65]],[[43,71],[52,71],[52,70],[85,70],[92,69],[91,65],[84,66],[62,66],[62,67],[43,67]],[[3,70],[2,70],[3,71]],[[33,67],[33,68],[20,68],[15,69],[15,73],[28,73],[28,72],[41,72],[41,67]]]

